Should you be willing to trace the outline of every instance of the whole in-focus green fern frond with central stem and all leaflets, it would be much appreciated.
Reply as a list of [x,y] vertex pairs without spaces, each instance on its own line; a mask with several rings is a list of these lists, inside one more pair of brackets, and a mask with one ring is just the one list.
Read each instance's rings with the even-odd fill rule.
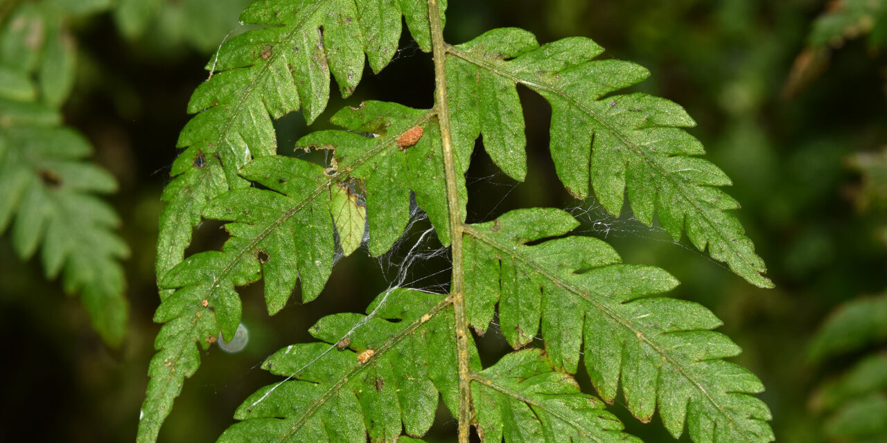
[[[367,315],[322,319],[310,330],[321,342],[265,361],[285,378],[247,399],[222,440],[414,441],[431,426],[439,395],[458,418],[459,441],[471,426],[483,441],[637,440],[604,405],[621,385],[633,415],[648,421],[658,409],[676,437],[686,428],[700,443],[771,441],[769,410],[750,395],[762,385],[724,360],[739,348],[711,331],[720,322],[707,309],[663,297],[677,284],[664,270],[622,264],[597,239],[563,237],[577,221],[560,210],[465,223],[464,177],[478,136],[507,175],[526,175],[520,83],[552,105],[551,152],[571,194],[593,194],[619,214],[627,191],[640,221],[655,217],[675,238],[686,232],[739,276],[769,287],[763,261],[726,212],[737,203],[717,188],[729,179],[698,157],[701,144],[682,129],[693,120],[663,98],[613,95],[648,73],[594,60],[602,50],[585,38],[540,46],[506,28],[444,43],[445,6],[263,0],[241,15],[266,27],[224,43],[208,64],[163,196],[155,321],[166,324],[138,439],[157,438],[184,378],[200,365],[200,348],[233,335],[238,286],[262,278],[270,314],[297,281],[302,300],[316,298],[336,239],[348,255],[368,229],[369,252],[385,253],[408,222],[412,194],[451,248],[449,293],[396,289]],[[376,72],[389,62],[402,16],[434,54],[435,107],[348,106],[332,118],[340,129],[296,143],[327,152],[326,164],[277,155],[271,120],[300,109],[315,120],[331,73],[348,97],[364,57]],[[203,219],[227,221],[231,237],[222,251],[185,258]],[[541,324],[545,351],[515,351],[484,368],[469,328],[483,333],[497,307],[511,346],[527,346]],[[580,392],[572,377],[583,354],[604,401]]]

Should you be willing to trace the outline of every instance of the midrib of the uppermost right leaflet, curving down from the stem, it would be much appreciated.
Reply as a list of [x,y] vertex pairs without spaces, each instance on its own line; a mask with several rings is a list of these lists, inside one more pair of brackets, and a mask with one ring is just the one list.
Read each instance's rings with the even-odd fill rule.
[[[679,192],[681,193],[681,196],[682,196],[682,197],[683,197],[683,198],[684,198],[684,199],[685,199],[685,200],[686,200],[691,206],[694,207],[694,209],[696,210],[696,212],[697,212],[698,214],[701,214],[701,215],[702,215],[702,217],[703,217],[703,219],[705,220],[705,222],[711,227],[711,230],[714,231],[714,232],[717,232],[717,233],[718,233],[718,237],[721,237],[721,243],[722,243],[722,244],[725,244],[725,245],[730,245],[730,246],[729,246],[729,247],[730,247],[730,250],[733,251],[734,255],[736,255],[736,257],[738,257],[739,260],[742,260],[742,262],[745,263],[745,265],[746,265],[747,267],[749,267],[750,269],[752,269],[752,270],[755,272],[755,274],[757,274],[758,272],[762,272],[762,271],[759,271],[759,270],[758,270],[757,266],[755,266],[754,264],[752,264],[749,260],[746,260],[745,257],[744,257],[741,253],[739,253],[739,252],[736,251],[736,249],[733,247],[733,242],[730,240],[730,236],[725,235],[725,233],[721,231],[721,229],[720,229],[720,224],[715,223],[714,221],[711,221],[711,220],[710,220],[710,218],[709,218],[707,212],[706,212],[706,211],[703,211],[703,209],[697,204],[696,199],[690,197],[688,191],[684,188],[683,183],[679,182],[679,181],[676,180],[674,177],[672,177],[671,175],[667,174],[667,173],[665,172],[665,170],[664,170],[662,167],[660,167],[660,166],[658,165],[658,163],[656,163],[653,159],[650,158],[650,156],[648,156],[648,154],[646,154],[645,152],[641,151],[641,150],[638,148],[638,146],[637,146],[636,144],[633,144],[633,143],[632,143],[632,142],[631,142],[626,136],[624,136],[624,135],[622,134],[621,131],[619,131],[617,128],[613,127],[612,125],[610,125],[606,120],[601,119],[600,116],[599,116],[597,113],[593,112],[593,110],[588,109],[585,105],[582,105],[582,104],[579,103],[575,98],[570,97],[568,94],[566,94],[565,92],[563,92],[561,89],[554,88],[553,86],[550,86],[550,85],[545,84],[545,83],[530,82],[529,80],[526,80],[526,79],[523,79],[523,78],[521,78],[521,77],[518,77],[518,76],[512,74],[512,73],[509,72],[509,71],[506,71],[506,70],[504,70],[504,69],[500,69],[499,66],[493,65],[493,64],[491,64],[490,62],[487,62],[486,60],[483,60],[483,59],[481,59],[481,58],[475,58],[475,57],[472,57],[468,52],[466,52],[466,51],[460,51],[459,49],[455,48],[454,46],[448,46],[448,47],[447,47],[447,52],[451,53],[452,55],[454,55],[454,56],[456,56],[456,57],[458,57],[458,58],[462,58],[463,60],[466,60],[468,63],[471,63],[471,64],[473,64],[473,65],[475,65],[475,66],[483,67],[484,69],[487,69],[487,70],[491,71],[492,73],[495,73],[495,74],[498,74],[498,75],[500,75],[500,76],[506,77],[507,79],[510,79],[512,82],[524,84],[524,85],[526,85],[526,86],[528,86],[528,87],[530,87],[530,88],[532,88],[532,89],[544,89],[544,90],[546,90],[546,91],[552,92],[553,94],[557,94],[557,95],[558,95],[559,97],[561,97],[562,99],[568,101],[568,102],[571,103],[572,105],[576,106],[577,108],[579,108],[579,109],[582,110],[583,112],[585,112],[585,113],[587,113],[588,115],[590,115],[590,116],[591,116],[594,120],[596,120],[601,126],[603,126],[604,128],[607,128],[608,131],[609,131],[610,133],[612,133],[613,135],[615,135],[616,137],[618,137],[620,141],[622,141],[626,146],[629,146],[629,147],[632,149],[633,152],[635,152],[635,153],[636,153],[637,155],[639,155],[642,159],[644,159],[644,160],[648,163],[648,166],[650,166],[650,167],[652,167],[653,169],[655,169],[655,171],[656,171],[659,175],[663,176],[665,180],[671,182],[672,185],[673,185],[676,189],[679,190]],[[685,227],[685,228],[682,229],[682,230],[687,230],[687,228]],[[709,248],[710,248],[710,245],[709,245]],[[760,279],[763,279],[764,281],[767,280],[766,277],[764,277],[764,276],[757,275],[757,277],[760,278]],[[743,276],[743,278],[747,278],[747,277],[744,277],[744,276]]]

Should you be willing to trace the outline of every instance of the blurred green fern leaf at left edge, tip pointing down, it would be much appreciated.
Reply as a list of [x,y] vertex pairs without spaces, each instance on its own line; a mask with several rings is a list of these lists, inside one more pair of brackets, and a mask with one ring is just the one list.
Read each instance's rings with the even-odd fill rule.
[[46,276],[61,275],[65,291],[79,292],[98,334],[117,346],[127,317],[119,260],[129,248],[114,234],[117,214],[93,195],[113,192],[117,184],[104,169],[83,161],[90,152],[69,128],[0,130],[0,233],[14,215],[16,252],[27,260],[40,248]]

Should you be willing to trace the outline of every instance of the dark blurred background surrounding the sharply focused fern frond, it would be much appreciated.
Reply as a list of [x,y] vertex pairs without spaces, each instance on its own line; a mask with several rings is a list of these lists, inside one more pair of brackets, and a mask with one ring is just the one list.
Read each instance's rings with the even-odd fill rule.
[[[0,19],[31,3],[4,0]],[[151,318],[161,190],[188,97],[206,79],[203,67],[218,44],[244,30],[237,17],[248,1],[39,3],[85,8],[63,22],[77,48],[63,120],[87,136],[98,164],[120,183],[110,201],[131,250],[130,320],[124,344],[106,346],[82,307],[62,297],[61,284],[45,281],[35,260],[22,262],[9,237],[0,237],[0,426],[10,441],[130,440],[159,329]],[[570,198],[548,159],[550,109],[526,90],[527,181],[510,181],[476,150],[469,221],[516,207],[569,208],[586,233],[606,238],[627,262],[665,268],[682,282],[674,297],[699,301],[724,321],[721,330],[744,350],[737,362],[767,388],[762,398],[779,441],[887,441],[887,296],[878,296],[887,288],[887,1],[451,0],[451,43],[507,26],[529,29],[540,42],[585,35],[607,48],[604,57],[648,67],[652,75],[638,90],[685,106],[698,122],[691,132],[733,178],[728,191],[742,203],[738,216],[777,287],[752,287],[631,214],[614,219],[593,201]],[[430,56],[401,43],[390,66],[379,75],[367,71],[354,97],[334,98],[312,128],[328,127],[336,109],[364,99],[432,105]],[[308,130],[299,114],[277,127],[281,153]],[[224,241],[210,222],[195,234],[194,251]],[[161,441],[215,439],[239,402],[272,381],[258,369],[263,358],[309,341],[306,330],[322,315],[362,312],[388,286],[396,269],[386,265],[397,254],[341,260],[318,300],[291,301],[273,317],[261,284],[241,291],[248,346],[239,354],[208,351]],[[445,266],[430,260],[412,275]],[[494,332],[479,346],[491,359],[506,352]],[[671,441],[658,419],[640,424],[618,402],[611,409],[646,441]],[[437,429],[429,441],[449,441],[455,426],[443,417]]]

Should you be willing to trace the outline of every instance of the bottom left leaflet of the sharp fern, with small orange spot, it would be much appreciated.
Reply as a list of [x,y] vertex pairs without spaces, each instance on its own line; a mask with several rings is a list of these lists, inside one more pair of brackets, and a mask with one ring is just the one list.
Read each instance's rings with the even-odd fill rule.
[[438,392],[450,408],[458,403],[450,299],[397,289],[373,311],[326,316],[310,329],[326,343],[287,346],[266,360],[263,369],[287,380],[244,401],[235,413],[243,421],[219,440],[393,442],[428,431]]

